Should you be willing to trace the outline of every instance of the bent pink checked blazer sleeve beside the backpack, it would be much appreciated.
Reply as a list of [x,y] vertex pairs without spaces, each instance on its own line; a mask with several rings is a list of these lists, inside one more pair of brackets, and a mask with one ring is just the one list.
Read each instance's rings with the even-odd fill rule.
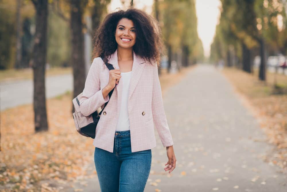
[[100,89],[101,63],[101,58],[94,58],[86,78],[83,94],[79,100],[80,111],[86,117],[94,113],[110,99],[109,96],[103,98],[102,89]]

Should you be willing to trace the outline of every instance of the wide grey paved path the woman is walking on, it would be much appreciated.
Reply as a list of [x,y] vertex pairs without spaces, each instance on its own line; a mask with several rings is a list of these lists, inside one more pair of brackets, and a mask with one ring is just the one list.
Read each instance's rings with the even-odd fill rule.
[[[152,149],[152,170],[145,191],[287,191],[286,174],[261,159],[274,146],[264,141],[266,136],[257,121],[212,66],[196,67],[171,87],[164,97],[164,108],[177,167],[171,174],[164,171],[166,149],[156,132],[157,146]],[[92,158],[90,171],[95,169]],[[156,181],[157,186],[151,185]],[[100,191],[97,177],[73,186]]]

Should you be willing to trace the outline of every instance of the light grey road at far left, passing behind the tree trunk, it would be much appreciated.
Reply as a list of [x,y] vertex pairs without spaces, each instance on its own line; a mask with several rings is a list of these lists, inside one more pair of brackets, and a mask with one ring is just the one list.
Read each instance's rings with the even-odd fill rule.
[[[73,90],[72,75],[54,75],[46,78],[46,98]],[[33,102],[32,80],[0,83],[0,111]]]

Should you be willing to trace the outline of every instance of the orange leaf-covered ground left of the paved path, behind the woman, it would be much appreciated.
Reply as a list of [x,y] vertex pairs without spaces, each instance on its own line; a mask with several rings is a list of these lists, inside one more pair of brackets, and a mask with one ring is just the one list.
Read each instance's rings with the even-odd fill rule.
[[[162,70],[163,95],[192,69],[193,66],[177,74]],[[32,104],[1,112],[1,191],[61,191],[63,188],[51,183],[64,186],[88,176],[93,139],[81,136],[75,129],[71,93],[48,99],[46,107],[49,131],[36,134]]]

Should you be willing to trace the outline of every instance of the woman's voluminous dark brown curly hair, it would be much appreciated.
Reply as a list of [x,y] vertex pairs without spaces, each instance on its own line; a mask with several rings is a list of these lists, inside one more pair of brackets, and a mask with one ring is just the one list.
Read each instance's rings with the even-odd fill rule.
[[136,41],[133,45],[135,54],[150,63],[156,61],[159,66],[163,43],[158,22],[146,12],[135,8],[126,11],[119,10],[106,15],[93,38],[95,42],[93,58],[102,57],[104,62],[108,62],[108,57],[116,51],[118,44],[115,39],[115,31],[122,18],[132,20],[135,25]]

